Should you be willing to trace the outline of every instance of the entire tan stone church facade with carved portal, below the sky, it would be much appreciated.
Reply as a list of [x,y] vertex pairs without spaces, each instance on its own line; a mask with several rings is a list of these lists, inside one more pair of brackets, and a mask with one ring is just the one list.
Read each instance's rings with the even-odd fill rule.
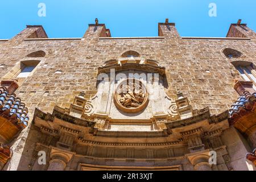
[[0,40],[2,170],[255,170],[256,33]]

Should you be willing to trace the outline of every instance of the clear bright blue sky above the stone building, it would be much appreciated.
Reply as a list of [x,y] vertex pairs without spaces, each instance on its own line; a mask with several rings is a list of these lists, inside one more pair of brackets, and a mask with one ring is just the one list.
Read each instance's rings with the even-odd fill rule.
[[[46,4],[46,17],[38,4]],[[210,17],[209,3],[217,16]],[[226,36],[239,18],[256,31],[255,0],[8,0],[0,1],[0,39],[42,24],[49,38],[80,38],[89,23],[105,23],[112,36],[158,36],[158,23],[175,22],[181,36]]]

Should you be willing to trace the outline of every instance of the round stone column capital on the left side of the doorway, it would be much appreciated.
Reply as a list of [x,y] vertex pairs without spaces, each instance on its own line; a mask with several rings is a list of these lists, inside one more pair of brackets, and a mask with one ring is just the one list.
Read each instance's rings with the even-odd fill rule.
[[67,163],[71,160],[73,152],[52,148],[49,161],[48,171],[64,171]]

